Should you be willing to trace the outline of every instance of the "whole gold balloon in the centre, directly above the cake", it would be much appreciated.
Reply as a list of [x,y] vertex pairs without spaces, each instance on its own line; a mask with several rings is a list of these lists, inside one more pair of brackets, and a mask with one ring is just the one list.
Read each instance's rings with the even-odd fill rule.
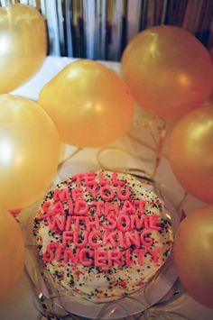
[[133,117],[133,98],[115,72],[90,60],[72,62],[42,88],[39,104],[64,143],[99,147],[120,138]]

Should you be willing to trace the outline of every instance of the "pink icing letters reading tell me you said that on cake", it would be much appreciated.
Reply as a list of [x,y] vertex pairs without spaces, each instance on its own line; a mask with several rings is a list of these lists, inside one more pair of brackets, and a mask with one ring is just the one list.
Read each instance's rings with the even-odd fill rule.
[[[115,263],[129,266],[133,254],[143,265],[148,253],[154,263],[158,262],[160,249],[152,248],[150,231],[161,232],[160,216],[145,215],[146,201],[131,198],[130,187],[117,178],[116,172],[112,178],[105,178],[102,172],[97,177],[91,171],[72,179],[75,188],[56,188],[53,202],[42,205],[40,219],[46,219],[51,232],[61,234],[61,242],[47,245],[43,261],[105,268]],[[85,192],[93,201],[86,201]],[[120,200],[120,206],[112,203],[115,199]],[[96,215],[90,215],[90,210]],[[71,249],[73,244],[75,250]]]

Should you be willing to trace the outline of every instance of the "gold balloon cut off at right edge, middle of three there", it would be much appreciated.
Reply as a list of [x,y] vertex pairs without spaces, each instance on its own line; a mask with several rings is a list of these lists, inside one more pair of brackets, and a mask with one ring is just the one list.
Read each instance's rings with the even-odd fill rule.
[[171,133],[171,169],[191,195],[213,203],[213,105],[186,114]]

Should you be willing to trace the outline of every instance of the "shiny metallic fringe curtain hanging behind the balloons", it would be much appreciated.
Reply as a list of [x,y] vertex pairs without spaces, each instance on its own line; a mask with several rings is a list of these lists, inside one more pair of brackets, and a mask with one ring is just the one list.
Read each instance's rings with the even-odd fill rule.
[[0,0],[32,5],[45,16],[49,54],[119,60],[137,32],[180,26],[213,46],[213,0]]

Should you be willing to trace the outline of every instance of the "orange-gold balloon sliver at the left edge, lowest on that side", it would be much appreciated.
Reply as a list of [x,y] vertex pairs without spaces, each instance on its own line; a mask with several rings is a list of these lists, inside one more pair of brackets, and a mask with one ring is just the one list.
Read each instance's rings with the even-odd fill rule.
[[23,235],[14,217],[0,210],[0,302],[20,279],[24,263]]

